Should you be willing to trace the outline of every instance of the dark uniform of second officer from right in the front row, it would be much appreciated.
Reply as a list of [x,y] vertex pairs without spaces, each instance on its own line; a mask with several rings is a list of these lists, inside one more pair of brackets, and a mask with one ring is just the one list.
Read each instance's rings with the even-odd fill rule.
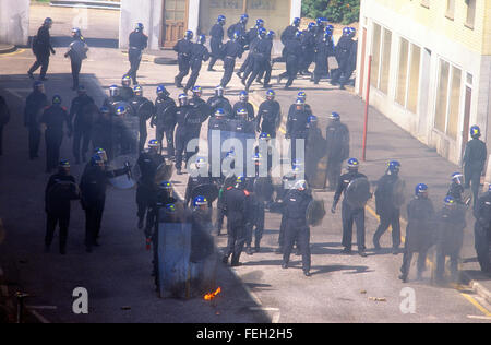
[[443,279],[445,272],[445,258],[450,257],[451,274],[453,279],[457,276],[458,254],[464,242],[464,229],[466,228],[466,207],[454,204],[444,206],[436,213],[436,281]]

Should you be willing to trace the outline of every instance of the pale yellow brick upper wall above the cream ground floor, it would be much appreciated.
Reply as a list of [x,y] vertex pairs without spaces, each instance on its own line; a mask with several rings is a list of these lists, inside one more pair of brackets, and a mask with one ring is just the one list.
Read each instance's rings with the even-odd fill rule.
[[403,15],[411,17],[429,29],[435,31],[466,46],[480,55],[491,55],[491,0],[477,0],[474,29],[465,26],[467,4],[455,0],[454,19],[448,20],[446,0],[428,0],[429,8],[421,0],[361,0],[375,1]]

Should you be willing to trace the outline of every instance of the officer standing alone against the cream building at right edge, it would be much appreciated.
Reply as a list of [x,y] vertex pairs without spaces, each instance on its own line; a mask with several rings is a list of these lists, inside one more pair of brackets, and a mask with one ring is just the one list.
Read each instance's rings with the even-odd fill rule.
[[463,157],[464,176],[466,179],[465,188],[470,188],[474,195],[474,205],[476,206],[479,198],[479,186],[481,183],[481,175],[484,170],[488,153],[486,143],[479,138],[481,130],[478,126],[470,128],[470,136],[472,138],[467,144]]

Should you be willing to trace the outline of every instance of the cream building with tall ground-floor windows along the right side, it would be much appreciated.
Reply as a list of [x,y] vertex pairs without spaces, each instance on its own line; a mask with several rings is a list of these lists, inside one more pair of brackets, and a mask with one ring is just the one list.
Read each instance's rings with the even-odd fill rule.
[[491,142],[490,0],[361,0],[357,61],[357,93],[370,83],[370,105],[443,157],[460,162],[472,124]]

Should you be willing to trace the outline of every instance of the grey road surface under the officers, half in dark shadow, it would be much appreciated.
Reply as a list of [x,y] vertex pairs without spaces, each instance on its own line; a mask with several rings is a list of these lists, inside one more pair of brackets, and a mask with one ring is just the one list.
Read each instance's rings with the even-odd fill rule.
[[[43,16],[39,14],[39,17]],[[63,22],[69,20],[64,19]],[[93,38],[98,38],[96,33],[94,35]],[[63,48],[58,50],[63,51]],[[219,266],[217,281],[223,287],[223,294],[214,306],[200,299],[183,301],[156,298],[149,277],[151,254],[145,252],[144,238],[136,230],[134,191],[131,190],[108,191],[100,250],[93,255],[85,254],[83,212],[74,204],[69,254],[44,254],[43,193],[48,176],[41,174],[43,156],[38,160],[27,160],[27,135],[22,127],[21,99],[25,98],[31,90],[31,81],[25,72],[32,62],[31,52],[25,50],[0,57],[0,68],[5,71],[0,76],[0,92],[8,95],[9,104],[15,109],[14,119],[4,133],[5,155],[0,157],[0,188],[3,191],[0,194],[0,218],[3,219],[7,235],[3,242],[0,241],[0,262],[12,289],[27,289],[36,296],[33,297],[35,305],[57,306],[56,311],[43,312],[48,320],[217,323],[490,322],[489,300],[482,297],[483,293],[476,294],[489,289],[490,278],[480,275],[477,269],[472,249],[474,221],[470,214],[460,270],[467,275],[471,274],[472,285],[434,286],[431,281],[432,254],[423,281],[416,282],[411,275],[408,284],[402,284],[397,279],[402,255],[393,255],[390,252],[390,235],[386,234],[381,241],[387,250],[379,253],[372,250],[371,238],[378,226],[378,219],[372,214],[373,203],[367,209],[366,243],[369,257],[339,254],[342,229],[338,209],[336,214],[327,214],[322,225],[311,229],[310,278],[301,274],[300,258],[296,255],[291,257],[291,267],[282,270],[282,258],[274,253],[280,219],[277,214],[267,213],[263,251],[252,257],[243,254],[242,265],[239,267]],[[207,72],[206,67],[205,63],[197,82],[204,87],[204,98],[213,94],[213,88],[221,78],[219,66],[218,72]],[[81,80],[97,104],[101,104],[108,86],[119,84],[128,68],[129,63],[122,51],[108,47],[93,48],[88,60],[82,67]],[[282,72],[284,64],[275,66],[273,75]],[[148,53],[148,59],[142,62],[139,71],[144,95],[155,99],[155,86],[164,83],[172,97],[177,97],[181,91],[172,85],[176,74],[176,66],[155,64],[152,62],[152,53]],[[74,93],[69,90],[70,66],[62,53],[52,57],[48,78],[48,96],[60,93],[63,105],[69,106]],[[232,102],[237,99],[242,87],[233,75],[227,90]],[[325,128],[331,111],[338,111],[343,121],[350,128],[351,155],[361,156],[363,103],[359,97],[349,91],[338,91],[326,82],[314,86],[307,78],[296,81],[289,91],[276,85],[274,90],[277,92],[284,116],[300,90],[308,93],[308,103],[321,119],[321,128]],[[263,95],[264,90],[254,85],[251,99],[256,106]],[[203,127],[202,138],[205,132],[206,124]],[[44,154],[43,143],[41,153]],[[71,158],[69,140],[64,141],[62,155]],[[408,188],[407,197],[410,198],[412,186],[423,181],[430,186],[435,209],[441,205],[450,175],[458,169],[372,108],[367,158],[361,170],[373,183],[383,175],[388,159],[402,162],[402,176]],[[75,177],[80,178],[81,169],[82,166],[73,168]],[[188,175],[172,177],[178,192],[183,193],[187,179]],[[325,201],[328,210],[333,193],[316,191],[316,195]],[[224,248],[225,241],[226,237],[216,237],[219,249]],[[411,271],[414,272],[415,267]],[[71,313],[71,292],[77,286],[92,292],[93,307],[88,316]],[[400,309],[404,301],[402,294],[407,287],[415,292],[415,313],[405,313]],[[472,292],[472,287],[476,292]],[[130,309],[122,308],[127,306]]]

